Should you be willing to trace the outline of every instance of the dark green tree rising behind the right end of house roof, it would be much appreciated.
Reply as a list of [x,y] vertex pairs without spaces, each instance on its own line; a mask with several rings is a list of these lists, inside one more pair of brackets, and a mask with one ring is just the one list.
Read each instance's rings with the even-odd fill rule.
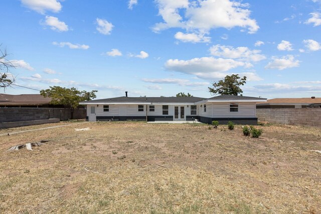
[[246,76],[243,78],[239,77],[238,74],[232,74],[231,76],[227,75],[224,80],[218,82],[212,82],[213,87],[208,87],[209,92],[212,94],[230,94],[242,96],[243,90],[240,88],[240,85],[246,83]]

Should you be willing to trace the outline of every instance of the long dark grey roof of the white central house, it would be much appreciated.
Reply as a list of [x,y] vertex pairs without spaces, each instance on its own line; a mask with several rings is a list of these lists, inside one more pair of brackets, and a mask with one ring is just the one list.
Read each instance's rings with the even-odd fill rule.
[[203,98],[196,96],[183,96],[183,97],[127,97],[120,96],[107,99],[96,99],[90,101],[80,102],[80,104],[157,104],[157,103],[182,103],[193,104],[202,103],[207,101],[265,101],[266,98],[249,97],[249,96],[234,96],[234,95],[221,95],[212,98]]

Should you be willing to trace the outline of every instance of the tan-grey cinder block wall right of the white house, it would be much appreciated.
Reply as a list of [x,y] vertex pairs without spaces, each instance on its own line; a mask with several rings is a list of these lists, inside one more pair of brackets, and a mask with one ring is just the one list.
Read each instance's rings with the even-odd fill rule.
[[257,109],[259,121],[321,127],[321,109]]

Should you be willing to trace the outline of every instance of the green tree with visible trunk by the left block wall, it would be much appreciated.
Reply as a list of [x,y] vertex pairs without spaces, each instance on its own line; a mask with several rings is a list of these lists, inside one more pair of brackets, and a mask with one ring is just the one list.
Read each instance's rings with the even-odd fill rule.
[[60,86],[50,86],[49,89],[41,90],[40,94],[44,97],[51,97],[50,104],[67,105],[71,110],[71,118],[73,118],[74,109],[79,105],[79,102],[96,98],[97,90],[80,91],[76,88],[65,88]]

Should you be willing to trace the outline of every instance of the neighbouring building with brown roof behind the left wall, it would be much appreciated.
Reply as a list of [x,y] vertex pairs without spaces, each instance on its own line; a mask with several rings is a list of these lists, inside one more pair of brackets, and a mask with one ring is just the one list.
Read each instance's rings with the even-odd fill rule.
[[11,95],[0,93],[0,108],[64,108],[64,105],[51,105],[50,97],[40,94]]

